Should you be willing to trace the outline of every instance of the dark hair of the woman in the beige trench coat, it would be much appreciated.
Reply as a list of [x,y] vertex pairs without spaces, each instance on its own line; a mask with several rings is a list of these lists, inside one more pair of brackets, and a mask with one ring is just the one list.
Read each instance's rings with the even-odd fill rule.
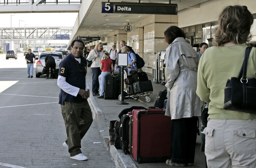
[[168,42],[168,44],[171,44],[177,37],[183,37],[186,38],[186,35],[181,28],[177,26],[170,26],[168,27],[165,32],[165,41]]

